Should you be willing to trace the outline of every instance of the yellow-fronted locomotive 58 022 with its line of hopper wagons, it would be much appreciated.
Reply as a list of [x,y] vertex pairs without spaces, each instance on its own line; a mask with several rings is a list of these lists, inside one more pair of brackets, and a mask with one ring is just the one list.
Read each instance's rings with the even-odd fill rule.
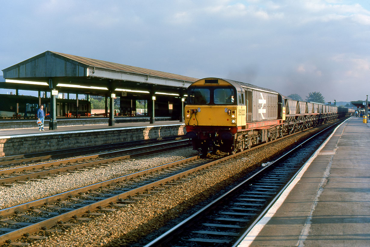
[[289,99],[277,91],[220,78],[188,87],[186,137],[193,148],[235,153],[353,114],[353,109]]

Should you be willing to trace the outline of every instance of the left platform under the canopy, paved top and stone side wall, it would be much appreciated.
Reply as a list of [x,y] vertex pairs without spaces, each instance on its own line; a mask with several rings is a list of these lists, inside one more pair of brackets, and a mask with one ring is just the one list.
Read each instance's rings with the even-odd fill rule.
[[148,140],[186,133],[185,124],[179,121],[116,123],[65,126],[56,130],[39,131],[35,127],[0,130],[0,157],[16,156],[70,148]]

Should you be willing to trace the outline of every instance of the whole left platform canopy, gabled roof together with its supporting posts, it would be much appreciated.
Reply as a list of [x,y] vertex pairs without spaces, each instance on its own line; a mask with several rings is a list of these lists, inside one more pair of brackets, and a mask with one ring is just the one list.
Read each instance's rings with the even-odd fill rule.
[[[154,123],[157,116],[183,121],[187,87],[198,80],[162,71],[45,51],[30,59],[3,69],[5,82],[0,88],[38,91],[38,105],[44,103],[41,92],[50,95],[49,128],[57,128],[57,116],[81,114],[78,95],[105,98],[105,116],[114,126],[114,105],[122,116],[135,116],[136,101],[145,104],[144,113]],[[74,108],[58,102],[58,94],[76,95]],[[43,101],[43,102],[42,102]],[[109,110],[108,110],[109,101]],[[15,107],[18,111],[19,105]],[[80,110],[80,113],[79,113]],[[88,113],[86,113],[88,114]],[[18,116],[18,112],[15,114]],[[88,115],[87,115],[88,116]]]

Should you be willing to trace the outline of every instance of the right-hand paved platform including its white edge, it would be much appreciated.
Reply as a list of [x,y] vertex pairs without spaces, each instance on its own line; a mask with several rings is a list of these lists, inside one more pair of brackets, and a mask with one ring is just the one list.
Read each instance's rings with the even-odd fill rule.
[[238,247],[370,246],[370,124],[336,128]]

